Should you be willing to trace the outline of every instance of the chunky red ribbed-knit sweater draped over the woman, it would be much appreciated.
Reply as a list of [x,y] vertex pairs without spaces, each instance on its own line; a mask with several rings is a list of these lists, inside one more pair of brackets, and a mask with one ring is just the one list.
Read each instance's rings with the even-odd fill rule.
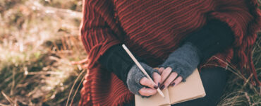
[[133,94],[97,59],[111,46],[124,43],[150,66],[162,64],[190,33],[212,18],[226,22],[235,35],[233,46],[198,67],[228,64],[257,79],[251,50],[260,28],[256,0],[83,0],[81,37],[88,70],[80,105],[122,105]]

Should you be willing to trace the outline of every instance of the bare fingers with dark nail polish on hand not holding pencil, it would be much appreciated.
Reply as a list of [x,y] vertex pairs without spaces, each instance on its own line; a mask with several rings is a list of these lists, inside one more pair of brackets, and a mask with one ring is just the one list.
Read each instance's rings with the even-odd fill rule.
[[[159,74],[162,76],[160,89],[164,90],[169,86],[175,86],[178,83],[181,83],[182,77],[178,76],[178,73],[172,72],[170,67],[164,69],[163,67],[159,68]],[[168,77],[169,76],[169,77]],[[166,81],[165,81],[166,80]]]

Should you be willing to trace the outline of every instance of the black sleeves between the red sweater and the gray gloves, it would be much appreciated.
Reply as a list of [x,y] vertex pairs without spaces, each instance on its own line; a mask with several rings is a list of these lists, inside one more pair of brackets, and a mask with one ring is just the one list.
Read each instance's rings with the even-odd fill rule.
[[[195,47],[200,49],[200,61],[205,61],[205,59],[232,45],[233,40],[233,32],[226,23],[220,20],[210,20],[200,30],[188,35],[183,43],[192,42]],[[145,62],[140,57],[136,58],[138,61]],[[121,45],[110,47],[98,61],[105,69],[115,73],[126,84],[128,71],[134,62]]]

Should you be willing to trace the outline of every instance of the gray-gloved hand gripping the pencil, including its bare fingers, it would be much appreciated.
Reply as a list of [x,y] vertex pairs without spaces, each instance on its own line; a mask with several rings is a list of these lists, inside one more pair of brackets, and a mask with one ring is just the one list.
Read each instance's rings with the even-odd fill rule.
[[140,71],[137,65],[133,65],[127,76],[128,89],[133,94],[149,97],[157,93],[161,76],[157,69],[153,69],[142,62],[140,64],[154,81],[150,81],[145,74]]

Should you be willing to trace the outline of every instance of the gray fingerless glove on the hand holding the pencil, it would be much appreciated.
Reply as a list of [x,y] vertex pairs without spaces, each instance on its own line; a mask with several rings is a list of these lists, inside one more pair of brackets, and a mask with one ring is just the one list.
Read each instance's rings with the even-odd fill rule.
[[[147,71],[147,74],[149,74],[151,78],[152,78],[153,72],[159,73],[159,71],[157,71],[157,69],[153,69],[152,67],[148,66],[147,64],[144,64],[142,62],[140,64],[145,69],[145,71]],[[128,76],[127,76],[127,86],[131,93],[140,95],[139,90],[143,87],[146,87],[146,86],[140,85],[140,79],[143,77],[146,77],[145,74],[142,73],[142,71],[140,71],[140,69],[138,68],[137,65],[133,65],[131,67],[130,71],[128,71]],[[140,96],[142,96],[142,95],[140,95]],[[142,96],[142,97],[145,97],[145,96]]]

